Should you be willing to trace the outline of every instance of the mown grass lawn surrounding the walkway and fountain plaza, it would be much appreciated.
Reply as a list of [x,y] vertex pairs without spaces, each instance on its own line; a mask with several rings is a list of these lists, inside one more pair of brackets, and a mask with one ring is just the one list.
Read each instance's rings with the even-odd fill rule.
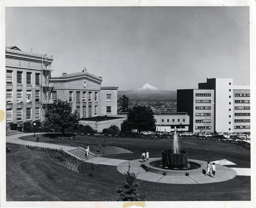
[[[54,140],[44,138],[43,135],[38,137],[41,142]],[[23,139],[33,140],[29,136]],[[76,142],[127,148],[134,153],[105,156],[126,160],[140,158],[143,150],[148,150],[150,157],[161,157],[161,150],[172,148],[172,140],[107,138],[104,141],[100,137],[78,136]],[[7,201],[112,201],[117,197],[115,188],[122,188],[122,181],[125,180],[115,166],[97,164],[94,177],[89,178],[87,171],[90,164],[82,163],[79,166],[80,173],[77,173],[54,163],[45,154],[30,151],[22,145],[7,145],[12,149],[6,153]],[[237,164],[233,167],[250,168],[250,150],[236,144],[183,140],[180,149],[188,151],[191,159],[228,159]],[[236,176],[224,182],[196,185],[137,181],[140,183],[139,190],[149,193],[148,201],[251,200],[249,176]]]

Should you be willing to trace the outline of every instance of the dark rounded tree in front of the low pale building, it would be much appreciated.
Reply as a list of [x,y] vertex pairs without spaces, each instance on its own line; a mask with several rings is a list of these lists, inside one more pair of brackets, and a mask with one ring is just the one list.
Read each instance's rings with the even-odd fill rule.
[[122,131],[138,129],[139,133],[144,130],[155,128],[155,120],[152,109],[146,106],[134,106],[129,109],[127,119],[122,123]]

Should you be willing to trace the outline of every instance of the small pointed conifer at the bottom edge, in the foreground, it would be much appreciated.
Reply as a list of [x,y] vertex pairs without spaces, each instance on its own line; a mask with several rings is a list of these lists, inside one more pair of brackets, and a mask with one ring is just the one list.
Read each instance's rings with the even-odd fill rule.
[[126,182],[123,181],[123,187],[125,190],[118,189],[118,187],[116,188],[116,192],[119,194],[117,201],[145,201],[147,193],[139,194],[139,184],[135,182],[136,176],[139,173],[136,175],[134,172],[130,173],[130,166],[131,165],[129,163],[129,169],[127,173],[124,173],[126,176]]

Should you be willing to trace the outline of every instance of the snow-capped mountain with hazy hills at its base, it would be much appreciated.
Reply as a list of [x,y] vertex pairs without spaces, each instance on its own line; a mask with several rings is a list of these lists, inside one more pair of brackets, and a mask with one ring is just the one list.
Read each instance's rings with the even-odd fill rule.
[[162,90],[157,87],[153,87],[150,84],[144,84],[142,87],[135,88],[132,90],[118,91],[117,97],[126,95],[133,99],[177,99],[177,91]]

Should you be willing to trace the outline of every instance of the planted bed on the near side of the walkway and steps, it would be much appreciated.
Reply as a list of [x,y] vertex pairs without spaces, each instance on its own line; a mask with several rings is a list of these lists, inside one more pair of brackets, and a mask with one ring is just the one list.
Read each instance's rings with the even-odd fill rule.
[[44,147],[34,147],[26,145],[26,148],[36,151],[36,152],[42,152],[46,155],[48,155],[52,161],[55,163],[68,168],[72,171],[79,172],[77,167],[82,161],[77,159],[74,156],[69,155],[68,153],[64,152],[61,149],[52,149],[52,148],[44,148]]

